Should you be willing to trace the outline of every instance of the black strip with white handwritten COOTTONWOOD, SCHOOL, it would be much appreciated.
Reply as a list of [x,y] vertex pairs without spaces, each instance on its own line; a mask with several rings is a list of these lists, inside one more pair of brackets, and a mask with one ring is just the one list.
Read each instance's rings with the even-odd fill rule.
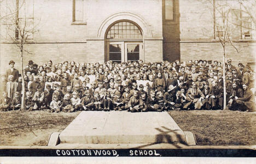
[[0,149],[0,156],[256,157],[253,149]]

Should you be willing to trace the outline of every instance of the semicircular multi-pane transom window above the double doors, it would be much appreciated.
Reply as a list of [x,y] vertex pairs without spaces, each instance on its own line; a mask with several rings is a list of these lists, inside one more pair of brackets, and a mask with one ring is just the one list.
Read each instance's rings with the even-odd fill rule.
[[121,21],[110,27],[107,39],[142,39],[142,33],[132,22]]

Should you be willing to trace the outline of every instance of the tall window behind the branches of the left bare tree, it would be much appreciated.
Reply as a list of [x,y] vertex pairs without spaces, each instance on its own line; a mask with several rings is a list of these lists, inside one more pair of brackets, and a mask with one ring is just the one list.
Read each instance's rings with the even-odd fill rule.
[[26,39],[33,39],[34,28],[34,0],[16,0],[16,30],[15,38],[20,38],[19,31],[23,33]]

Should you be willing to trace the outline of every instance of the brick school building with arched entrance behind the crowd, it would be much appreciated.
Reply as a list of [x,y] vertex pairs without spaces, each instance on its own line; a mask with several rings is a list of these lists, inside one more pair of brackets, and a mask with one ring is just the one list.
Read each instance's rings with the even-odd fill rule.
[[[26,16],[35,32],[26,46],[32,54],[25,54],[25,63],[31,59],[39,65],[48,60],[103,63],[223,59],[223,48],[216,42],[216,32],[221,30],[216,28],[218,15],[213,4],[218,0],[11,1],[14,6],[19,3],[19,20]],[[2,15],[8,13],[11,1],[2,1]],[[234,65],[254,65],[253,31],[237,26],[235,33],[233,39],[243,49],[237,54],[228,45],[226,57],[232,58]],[[14,60],[18,68],[21,65],[16,44],[5,39],[9,34],[15,36],[15,31],[10,33],[2,24],[2,70],[9,60]]]

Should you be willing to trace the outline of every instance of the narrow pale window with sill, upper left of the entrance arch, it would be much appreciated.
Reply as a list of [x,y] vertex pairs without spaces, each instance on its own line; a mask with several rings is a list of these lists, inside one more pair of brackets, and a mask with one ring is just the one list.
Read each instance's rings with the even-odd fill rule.
[[84,21],[84,0],[73,0],[73,22]]

